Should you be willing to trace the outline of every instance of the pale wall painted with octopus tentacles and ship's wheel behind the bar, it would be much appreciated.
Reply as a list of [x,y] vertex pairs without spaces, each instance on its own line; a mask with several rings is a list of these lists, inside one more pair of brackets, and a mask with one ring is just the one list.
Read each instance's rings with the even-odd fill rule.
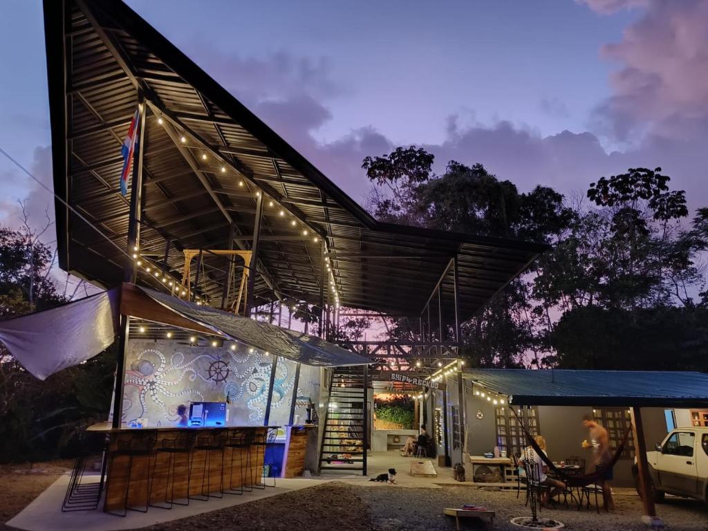
[[[131,339],[128,344],[123,392],[123,418],[131,423],[147,418],[148,426],[169,426],[177,408],[190,401],[227,402],[230,426],[263,426],[273,356],[240,344],[190,346],[179,341]],[[275,367],[271,426],[287,424],[297,363],[279,358]],[[319,368],[302,365],[297,396],[319,399]],[[304,422],[302,408],[296,414]],[[302,412],[300,412],[302,409]]]

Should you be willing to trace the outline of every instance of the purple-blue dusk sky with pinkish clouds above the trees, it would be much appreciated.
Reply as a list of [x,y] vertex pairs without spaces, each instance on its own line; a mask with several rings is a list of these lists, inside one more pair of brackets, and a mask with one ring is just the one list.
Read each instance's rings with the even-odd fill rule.
[[[708,0],[128,3],[359,202],[361,159],[416,144],[566,194],[661,165],[708,205]],[[0,147],[50,183],[41,3],[3,12]],[[51,203],[0,185],[2,224]]]

